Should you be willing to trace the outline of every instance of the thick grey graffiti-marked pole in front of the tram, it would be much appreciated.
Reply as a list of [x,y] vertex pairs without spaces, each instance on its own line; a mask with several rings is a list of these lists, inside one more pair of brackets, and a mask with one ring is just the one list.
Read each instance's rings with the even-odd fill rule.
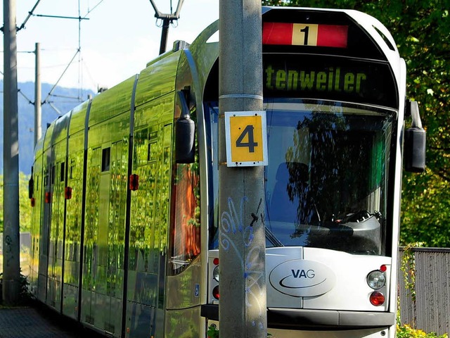
[[219,334],[266,338],[264,167],[226,166],[224,113],[262,111],[260,0],[219,1]]

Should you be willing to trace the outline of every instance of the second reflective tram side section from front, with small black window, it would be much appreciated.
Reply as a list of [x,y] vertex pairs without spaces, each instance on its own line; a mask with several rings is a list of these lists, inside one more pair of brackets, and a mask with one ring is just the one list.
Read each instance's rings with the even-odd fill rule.
[[122,330],[127,142],[89,150],[81,320]]

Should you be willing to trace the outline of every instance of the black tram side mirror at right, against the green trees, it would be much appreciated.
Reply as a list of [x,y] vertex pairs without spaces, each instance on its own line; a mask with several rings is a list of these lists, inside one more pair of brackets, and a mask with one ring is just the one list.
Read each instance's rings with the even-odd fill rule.
[[406,113],[411,113],[413,122],[404,134],[404,168],[412,173],[422,173],[425,170],[426,132],[420,121],[419,106],[416,101],[409,101]]

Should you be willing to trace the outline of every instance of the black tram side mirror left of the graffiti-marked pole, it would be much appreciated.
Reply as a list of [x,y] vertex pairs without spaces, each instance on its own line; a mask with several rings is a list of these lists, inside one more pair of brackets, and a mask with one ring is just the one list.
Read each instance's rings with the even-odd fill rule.
[[195,157],[195,123],[191,119],[186,97],[177,92],[181,105],[181,115],[175,122],[175,161],[193,163]]

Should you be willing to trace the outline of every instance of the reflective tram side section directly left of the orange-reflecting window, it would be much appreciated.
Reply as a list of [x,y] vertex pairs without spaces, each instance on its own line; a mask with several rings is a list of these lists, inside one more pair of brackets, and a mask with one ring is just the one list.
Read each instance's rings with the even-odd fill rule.
[[172,109],[171,96],[136,109],[132,174],[139,186],[131,189],[127,338],[163,334]]

